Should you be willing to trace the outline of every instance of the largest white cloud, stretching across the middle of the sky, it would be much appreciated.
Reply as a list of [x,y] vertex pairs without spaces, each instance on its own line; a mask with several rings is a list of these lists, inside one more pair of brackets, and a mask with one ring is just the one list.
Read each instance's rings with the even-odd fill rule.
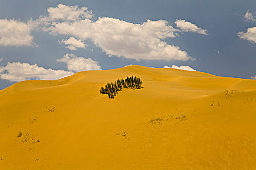
[[[69,9],[72,16],[66,13]],[[77,11],[85,9],[90,15],[80,17]],[[58,14],[58,15],[57,15]],[[71,35],[81,40],[91,39],[107,55],[144,60],[188,60],[192,59],[186,51],[175,45],[167,44],[164,39],[176,37],[177,29],[168,21],[147,20],[134,24],[111,17],[99,17],[92,21],[93,14],[86,7],[66,6],[48,8],[48,16],[40,17],[34,25],[50,34]],[[65,17],[64,17],[65,16]],[[35,24],[36,23],[36,24]]]

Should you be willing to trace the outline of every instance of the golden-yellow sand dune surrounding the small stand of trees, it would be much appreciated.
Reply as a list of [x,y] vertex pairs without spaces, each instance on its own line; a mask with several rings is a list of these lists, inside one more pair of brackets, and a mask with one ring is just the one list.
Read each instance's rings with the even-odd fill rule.
[[[99,93],[127,76],[143,88]],[[0,90],[0,134],[0,170],[255,170],[256,80],[129,66],[22,81]]]

